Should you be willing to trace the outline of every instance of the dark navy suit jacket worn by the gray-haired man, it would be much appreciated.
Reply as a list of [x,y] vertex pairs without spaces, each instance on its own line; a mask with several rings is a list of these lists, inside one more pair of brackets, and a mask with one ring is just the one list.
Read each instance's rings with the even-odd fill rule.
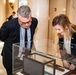
[[[37,23],[37,19],[32,18],[32,24],[30,26],[31,41],[33,40]],[[20,25],[18,23],[18,18],[3,23],[0,29],[0,40],[4,42],[2,56],[6,58],[6,62],[9,62],[12,58],[12,44],[20,42]]]

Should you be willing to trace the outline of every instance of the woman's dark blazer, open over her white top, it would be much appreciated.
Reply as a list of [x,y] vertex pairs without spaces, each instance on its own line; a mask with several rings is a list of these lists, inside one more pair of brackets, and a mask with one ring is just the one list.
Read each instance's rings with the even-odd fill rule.
[[[59,44],[63,45],[64,39],[60,38],[59,39]],[[76,33],[73,33],[72,37],[71,37],[71,54],[76,56]]]

